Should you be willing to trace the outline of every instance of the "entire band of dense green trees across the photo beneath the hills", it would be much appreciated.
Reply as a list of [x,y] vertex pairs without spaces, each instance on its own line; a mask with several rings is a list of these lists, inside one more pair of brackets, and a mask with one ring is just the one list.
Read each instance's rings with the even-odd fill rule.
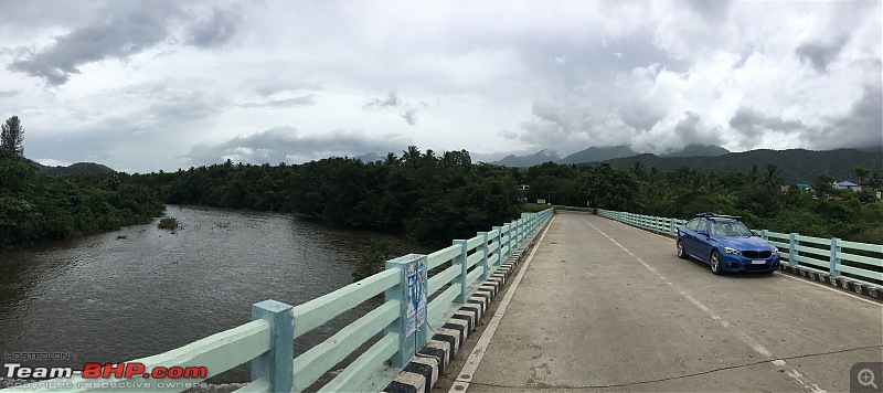
[[[84,163],[56,168],[55,174],[67,176],[54,177],[39,172],[40,166],[23,157],[23,128],[17,117],[2,126],[0,248],[145,222],[161,213],[163,202],[291,212],[404,233],[424,245],[442,246],[515,217],[523,209],[520,199],[681,219],[714,211],[742,215],[755,229],[883,243],[883,203],[874,191],[834,190],[828,174],[816,176],[812,191],[795,187],[783,191],[784,173],[773,163],[724,174],[690,168],[648,169],[640,160],[630,168],[609,162],[546,162],[519,169],[472,163],[466,150],[437,156],[412,146],[401,158],[389,153],[376,162],[336,157],[302,164],[254,166],[227,160],[131,176]],[[844,163],[853,162],[841,157],[843,151],[826,152],[828,161],[804,167],[842,172]],[[777,162],[791,162],[799,151],[776,153],[781,155]],[[728,156],[733,155],[722,157]],[[871,161],[879,162],[880,156],[875,153],[876,161]],[[862,166],[850,169],[866,189],[883,187],[879,171]],[[93,174],[74,174],[84,170]],[[44,167],[43,172],[51,171]],[[530,190],[518,191],[518,184],[528,184]]]

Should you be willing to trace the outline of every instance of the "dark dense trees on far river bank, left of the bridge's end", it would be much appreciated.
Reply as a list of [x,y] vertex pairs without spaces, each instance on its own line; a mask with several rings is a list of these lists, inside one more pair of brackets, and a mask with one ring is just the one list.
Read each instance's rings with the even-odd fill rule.
[[502,167],[475,164],[469,152],[437,156],[409,147],[402,157],[362,162],[328,158],[302,164],[221,164],[132,174],[172,204],[294,212],[323,221],[405,233],[448,245],[518,214],[517,183]]

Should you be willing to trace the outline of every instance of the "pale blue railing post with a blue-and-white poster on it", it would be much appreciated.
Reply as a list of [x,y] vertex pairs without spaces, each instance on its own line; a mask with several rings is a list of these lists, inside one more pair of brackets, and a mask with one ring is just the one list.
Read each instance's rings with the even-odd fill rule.
[[393,365],[404,368],[426,342],[426,255],[408,254],[386,261],[387,269],[398,270],[398,285],[386,289],[386,301],[398,301],[398,319],[384,334],[398,334],[398,351]]

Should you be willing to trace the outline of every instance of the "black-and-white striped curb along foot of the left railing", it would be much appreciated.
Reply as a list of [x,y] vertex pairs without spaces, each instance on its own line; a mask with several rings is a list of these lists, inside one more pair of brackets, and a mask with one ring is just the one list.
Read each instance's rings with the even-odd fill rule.
[[426,346],[417,351],[417,355],[383,389],[383,392],[418,393],[429,392],[433,389],[438,382],[438,375],[445,371],[445,367],[454,361],[454,355],[469,334],[476,330],[493,298],[535,246],[539,234],[549,225],[551,217],[529,236],[522,247],[515,248],[506,263],[488,276],[485,284],[469,296],[442,328],[436,330],[436,333],[426,341]]

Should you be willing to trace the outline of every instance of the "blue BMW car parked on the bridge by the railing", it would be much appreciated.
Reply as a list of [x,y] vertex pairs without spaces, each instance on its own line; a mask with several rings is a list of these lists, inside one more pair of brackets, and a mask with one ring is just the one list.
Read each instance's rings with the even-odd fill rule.
[[678,256],[693,257],[725,272],[773,273],[779,268],[779,251],[760,238],[737,216],[698,214],[678,229]]

